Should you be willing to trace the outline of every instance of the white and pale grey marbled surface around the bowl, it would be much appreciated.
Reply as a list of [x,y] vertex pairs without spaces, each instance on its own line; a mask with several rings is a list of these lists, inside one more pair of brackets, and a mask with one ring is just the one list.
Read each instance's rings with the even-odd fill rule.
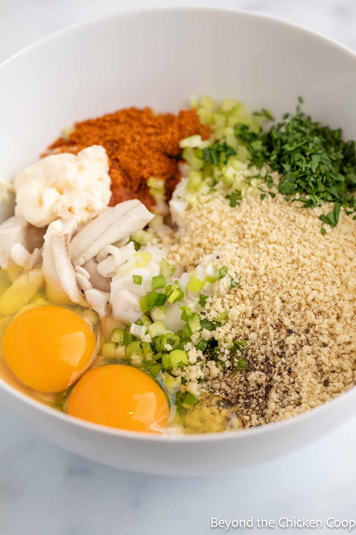
[[[241,7],[316,29],[356,50],[354,0],[244,0],[194,5]],[[185,5],[161,0],[0,0],[0,61],[62,27],[130,7]],[[0,118],[1,120],[1,118]],[[258,467],[203,478],[126,473],[86,461],[39,439],[0,408],[1,535],[196,535],[210,518],[356,520],[356,419],[313,446]],[[276,444],[278,448],[278,444]],[[216,452],[224,455],[224,450]],[[233,529],[233,533],[311,530]],[[344,533],[329,530],[318,533]],[[353,530],[356,533],[356,528]]]

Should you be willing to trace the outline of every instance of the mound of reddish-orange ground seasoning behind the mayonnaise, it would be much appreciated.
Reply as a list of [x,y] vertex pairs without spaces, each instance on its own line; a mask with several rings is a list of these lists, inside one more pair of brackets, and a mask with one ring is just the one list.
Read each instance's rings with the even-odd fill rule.
[[163,179],[169,199],[180,179],[179,141],[193,134],[201,134],[203,139],[210,135],[209,126],[201,126],[195,109],[174,115],[156,114],[151,108],[128,108],[76,123],[67,139],[60,137],[52,143],[45,156],[53,152],[76,154],[85,147],[102,145],[109,157],[112,179],[110,205],[138,198],[154,210],[147,179]]

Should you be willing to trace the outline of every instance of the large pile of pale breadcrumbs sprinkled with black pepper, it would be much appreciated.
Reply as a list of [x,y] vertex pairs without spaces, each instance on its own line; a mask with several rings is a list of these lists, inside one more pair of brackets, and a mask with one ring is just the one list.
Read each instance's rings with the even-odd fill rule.
[[207,314],[228,312],[215,338],[247,340],[247,370],[215,369],[204,388],[237,404],[247,426],[295,416],[356,383],[356,221],[342,209],[321,235],[318,216],[329,210],[259,192],[232,208],[215,193],[187,212],[170,248],[187,271],[218,251],[239,279]]

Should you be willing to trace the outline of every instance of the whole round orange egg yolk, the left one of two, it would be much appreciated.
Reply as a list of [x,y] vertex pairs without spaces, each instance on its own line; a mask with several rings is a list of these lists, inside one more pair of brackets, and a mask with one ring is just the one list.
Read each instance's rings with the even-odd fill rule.
[[96,337],[73,310],[46,305],[15,316],[6,328],[3,353],[25,385],[41,392],[61,392],[90,363]]

